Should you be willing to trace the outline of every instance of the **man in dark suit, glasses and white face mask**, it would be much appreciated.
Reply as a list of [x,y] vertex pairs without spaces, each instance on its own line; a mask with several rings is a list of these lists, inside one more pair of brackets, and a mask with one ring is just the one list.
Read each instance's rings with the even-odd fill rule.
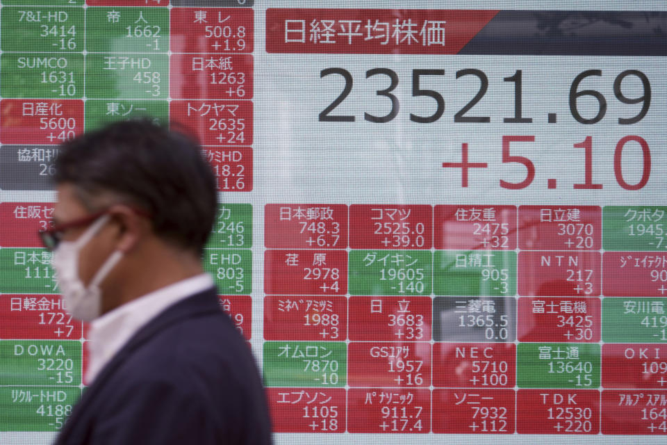
[[254,359],[201,268],[216,192],[199,147],[121,122],[65,143],[56,169],[42,238],[90,321],[89,387],[56,444],[270,444]]

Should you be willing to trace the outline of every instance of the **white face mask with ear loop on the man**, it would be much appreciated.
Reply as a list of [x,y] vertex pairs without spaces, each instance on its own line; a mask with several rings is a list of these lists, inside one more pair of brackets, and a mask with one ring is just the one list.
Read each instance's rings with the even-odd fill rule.
[[99,217],[76,241],[60,241],[53,252],[52,266],[56,270],[60,293],[65,300],[65,309],[74,318],[92,321],[101,311],[102,293],[99,284],[123,257],[123,252],[116,250],[104,261],[86,287],[79,278],[79,251],[97,234],[108,221],[109,216]]

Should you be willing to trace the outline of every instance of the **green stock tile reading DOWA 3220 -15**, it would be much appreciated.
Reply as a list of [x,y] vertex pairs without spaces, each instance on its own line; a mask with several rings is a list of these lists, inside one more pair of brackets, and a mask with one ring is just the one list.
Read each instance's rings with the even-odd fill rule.
[[79,386],[82,348],[78,340],[0,340],[0,386]]

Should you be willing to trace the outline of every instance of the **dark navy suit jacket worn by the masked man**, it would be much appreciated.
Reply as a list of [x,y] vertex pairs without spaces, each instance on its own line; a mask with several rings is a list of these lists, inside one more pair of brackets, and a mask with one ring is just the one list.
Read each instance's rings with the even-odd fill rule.
[[215,289],[156,316],[85,389],[57,445],[270,444],[261,380]]

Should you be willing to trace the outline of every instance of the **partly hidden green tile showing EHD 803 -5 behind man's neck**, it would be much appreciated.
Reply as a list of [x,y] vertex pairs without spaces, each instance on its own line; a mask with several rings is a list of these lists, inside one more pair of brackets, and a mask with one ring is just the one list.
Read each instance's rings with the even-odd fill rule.
[[224,295],[252,292],[252,250],[204,249],[204,270]]

